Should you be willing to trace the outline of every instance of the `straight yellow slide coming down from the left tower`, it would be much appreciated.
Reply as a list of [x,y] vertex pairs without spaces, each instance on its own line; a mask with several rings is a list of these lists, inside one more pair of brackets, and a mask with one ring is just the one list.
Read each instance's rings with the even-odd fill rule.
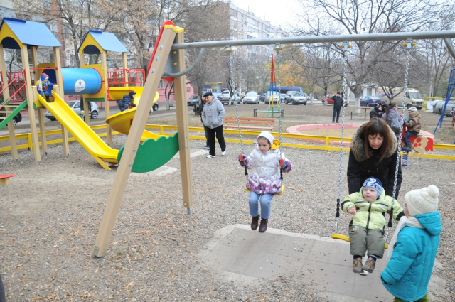
[[100,136],[90,128],[85,122],[71,109],[63,99],[53,90],[54,102],[46,102],[41,95],[38,99],[53,116],[58,119],[58,122],[63,124],[70,134],[87,150],[102,166],[105,164],[100,162],[107,161],[117,163],[118,150],[107,146]]

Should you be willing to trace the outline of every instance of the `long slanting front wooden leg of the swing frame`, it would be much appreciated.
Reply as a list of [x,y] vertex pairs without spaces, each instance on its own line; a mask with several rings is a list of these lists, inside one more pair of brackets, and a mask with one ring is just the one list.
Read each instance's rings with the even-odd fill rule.
[[102,216],[100,229],[98,230],[95,247],[93,249],[93,255],[95,257],[102,257],[106,254],[107,245],[109,244],[115,220],[120,205],[122,204],[124,190],[127,186],[134,158],[136,157],[136,151],[141,140],[142,131],[144,131],[145,124],[149,118],[150,107],[153,103],[155,92],[158,89],[161,75],[163,75],[166,60],[171,52],[175,36],[176,32],[173,31],[173,29],[164,28],[161,39],[155,46],[157,48],[155,58],[159,58],[159,60],[151,58],[153,63],[151,64],[149,77],[147,77],[142,92],[141,102],[139,102],[139,105],[137,106],[137,112],[134,116],[133,124],[123,150],[122,160],[117,168],[117,173],[115,174],[114,182],[112,183],[111,193],[107,199],[105,213]]

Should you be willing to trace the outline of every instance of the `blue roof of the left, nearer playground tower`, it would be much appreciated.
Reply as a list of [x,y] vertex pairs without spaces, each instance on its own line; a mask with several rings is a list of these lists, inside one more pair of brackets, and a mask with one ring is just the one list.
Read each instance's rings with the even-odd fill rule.
[[[33,46],[58,47],[61,46],[57,38],[50,32],[44,23],[25,21],[16,18],[3,18],[1,27],[4,23],[8,24],[11,31],[16,35],[21,43]],[[4,48],[20,49],[14,39],[4,39],[1,41]]]

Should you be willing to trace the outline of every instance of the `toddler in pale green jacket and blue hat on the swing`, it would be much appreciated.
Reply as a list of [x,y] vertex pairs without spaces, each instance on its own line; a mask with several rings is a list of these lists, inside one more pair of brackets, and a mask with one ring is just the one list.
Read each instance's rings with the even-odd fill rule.
[[[343,211],[354,215],[349,223],[350,254],[353,255],[353,272],[373,273],[376,259],[384,255],[385,212],[390,212],[393,204],[395,222],[405,215],[396,199],[386,196],[378,178],[365,180],[360,192],[344,198]],[[362,266],[362,256],[368,251],[368,259]]]

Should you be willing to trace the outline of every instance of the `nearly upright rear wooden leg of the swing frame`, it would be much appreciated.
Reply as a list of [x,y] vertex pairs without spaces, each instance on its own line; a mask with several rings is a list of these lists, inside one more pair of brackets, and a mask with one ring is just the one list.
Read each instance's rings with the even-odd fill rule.
[[[184,43],[183,32],[177,33],[176,43]],[[176,52],[178,72],[185,70],[185,50],[173,50]],[[188,109],[186,104],[186,76],[176,77],[174,80],[174,92],[177,113],[178,149],[180,152],[180,169],[183,190],[183,205],[190,213],[193,206],[193,178],[191,178],[190,139],[188,130]]]

